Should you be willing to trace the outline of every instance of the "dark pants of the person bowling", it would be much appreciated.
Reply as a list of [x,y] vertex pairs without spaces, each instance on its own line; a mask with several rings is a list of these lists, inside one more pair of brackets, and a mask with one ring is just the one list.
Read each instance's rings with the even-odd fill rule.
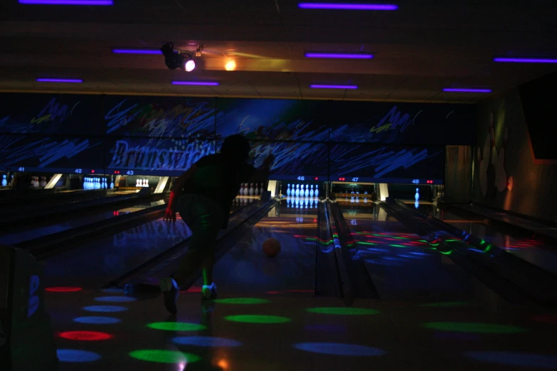
[[181,195],[176,206],[192,236],[189,250],[174,273],[174,280],[178,286],[184,287],[187,279],[202,267],[203,284],[210,285],[213,282],[216,238],[226,215],[216,201],[203,195]]

